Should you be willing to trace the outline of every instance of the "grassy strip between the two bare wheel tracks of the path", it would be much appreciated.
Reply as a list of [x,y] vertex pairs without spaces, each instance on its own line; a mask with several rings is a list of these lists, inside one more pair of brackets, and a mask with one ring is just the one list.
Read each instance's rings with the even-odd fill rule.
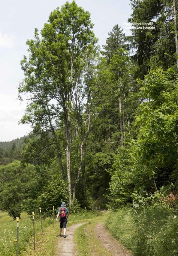
[[77,228],[75,242],[77,243],[78,256],[112,256],[95,236],[95,225],[104,218],[105,216],[102,216],[95,220],[90,220],[87,224]]

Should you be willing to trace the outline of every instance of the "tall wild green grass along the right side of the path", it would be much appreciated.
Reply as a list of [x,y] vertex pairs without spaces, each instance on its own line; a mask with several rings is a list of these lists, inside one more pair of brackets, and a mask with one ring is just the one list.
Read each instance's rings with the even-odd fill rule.
[[135,256],[172,256],[177,252],[177,215],[165,205],[122,208],[110,212],[105,225]]

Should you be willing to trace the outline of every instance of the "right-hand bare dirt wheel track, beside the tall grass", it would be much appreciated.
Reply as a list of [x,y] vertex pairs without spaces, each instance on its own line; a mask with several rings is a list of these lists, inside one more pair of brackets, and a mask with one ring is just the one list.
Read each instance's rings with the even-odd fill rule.
[[118,243],[116,239],[114,239],[109,231],[107,231],[104,227],[103,223],[98,223],[95,227],[95,235],[97,239],[99,239],[102,244],[112,253],[112,256],[132,256],[132,254],[124,249],[122,245]]

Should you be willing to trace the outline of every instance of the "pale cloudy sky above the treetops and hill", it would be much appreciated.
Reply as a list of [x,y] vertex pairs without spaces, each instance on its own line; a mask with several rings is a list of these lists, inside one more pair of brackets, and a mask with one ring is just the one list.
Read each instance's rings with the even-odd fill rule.
[[[72,0],[69,0],[71,3]],[[25,102],[18,100],[19,81],[23,80],[20,60],[28,56],[26,41],[34,38],[54,9],[66,0],[0,0],[0,141],[28,135],[30,125],[18,124],[25,113]],[[124,28],[132,10],[129,0],[76,0],[91,14],[93,31],[104,45],[114,25]],[[128,29],[126,35],[130,35]]]

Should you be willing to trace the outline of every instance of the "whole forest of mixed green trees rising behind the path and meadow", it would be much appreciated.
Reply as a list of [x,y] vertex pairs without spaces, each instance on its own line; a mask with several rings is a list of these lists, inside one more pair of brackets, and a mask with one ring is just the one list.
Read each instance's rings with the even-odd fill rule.
[[176,210],[173,5],[131,0],[128,21],[153,22],[154,29],[126,37],[116,24],[102,50],[90,13],[75,1],[52,11],[41,31],[35,28],[18,88],[19,100],[28,98],[21,123],[33,130],[24,141],[0,143],[2,210],[15,218],[64,200],[71,210],[95,201],[115,210]]

